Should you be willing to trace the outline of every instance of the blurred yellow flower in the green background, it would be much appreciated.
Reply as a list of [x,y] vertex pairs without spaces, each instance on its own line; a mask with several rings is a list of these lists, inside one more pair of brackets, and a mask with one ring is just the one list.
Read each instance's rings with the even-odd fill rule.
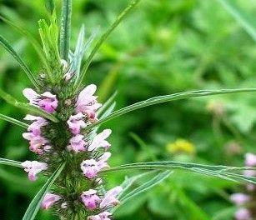
[[168,143],[166,146],[169,153],[187,153],[187,154],[194,154],[196,152],[195,146],[193,143],[178,138],[174,143]]

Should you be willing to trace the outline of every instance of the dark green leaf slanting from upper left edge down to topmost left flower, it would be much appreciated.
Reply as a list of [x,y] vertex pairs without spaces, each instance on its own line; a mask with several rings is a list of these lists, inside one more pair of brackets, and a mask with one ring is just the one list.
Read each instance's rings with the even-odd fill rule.
[[23,71],[27,74],[29,80],[33,83],[37,89],[39,88],[38,82],[36,78],[33,76],[33,73],[28,68],[25,62],[23,62],[23,59],[18,55],[17,52],[14,51],[13,47],[7,42],[7,40],[0,35],[0,44],[16,59],[20,67],[23,68]]

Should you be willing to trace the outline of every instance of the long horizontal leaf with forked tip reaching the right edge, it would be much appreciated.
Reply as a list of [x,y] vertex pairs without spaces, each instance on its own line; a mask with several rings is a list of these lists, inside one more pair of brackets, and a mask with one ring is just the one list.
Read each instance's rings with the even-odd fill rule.
[[108,168],[102,173],[117,172],[121,170],[185,170],[193,173],[201,173],[208,177],[223,178],[238,183],[256,183],[256,178],[246,177],[236,172],[244,170],[256,170],[256,168],[237,168],[227,166],[209,166],[198,163],[178,163],[173,161],[166,162],[148,162],[148,163],[131,163],[118,167]]

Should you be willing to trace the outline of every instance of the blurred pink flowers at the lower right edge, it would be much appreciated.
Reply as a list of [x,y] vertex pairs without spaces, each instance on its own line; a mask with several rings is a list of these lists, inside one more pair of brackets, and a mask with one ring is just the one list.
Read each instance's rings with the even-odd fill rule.
[[[248,168],[255,168],[256,155],[253,153],[246,153],[245,165]],[[244,171],[244,175],[247,177],[256,177],[256,172],[254,170],[247,170]],[[230,197],[230,200],[238,206],[238,211],[235,213],[235,218],[237,220],[252,220],[256,218],[254,216],[255,213],[252,212],[253,208],[255,207],[249,206],[250,203],[253,204],[253,202],[255,201],[255,185],[247,184],[245,191],[246,193],[234,193]]]

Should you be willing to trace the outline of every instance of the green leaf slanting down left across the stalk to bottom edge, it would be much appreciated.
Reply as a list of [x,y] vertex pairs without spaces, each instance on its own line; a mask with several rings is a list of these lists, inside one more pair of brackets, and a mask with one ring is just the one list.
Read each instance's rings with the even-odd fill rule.
[[53,175],[48,178],[47,183],[43,185],[43,188],[40,189],[38,194],[33,198],[33,201],[29,204],[28,209],[23,216],[23,220],[33,220],[36,217],[45,194],[48,193],[48,190],[52,187],[60,173],[62,173],[64,167],[65,163],[60,165],[58,169],[53,173]]

